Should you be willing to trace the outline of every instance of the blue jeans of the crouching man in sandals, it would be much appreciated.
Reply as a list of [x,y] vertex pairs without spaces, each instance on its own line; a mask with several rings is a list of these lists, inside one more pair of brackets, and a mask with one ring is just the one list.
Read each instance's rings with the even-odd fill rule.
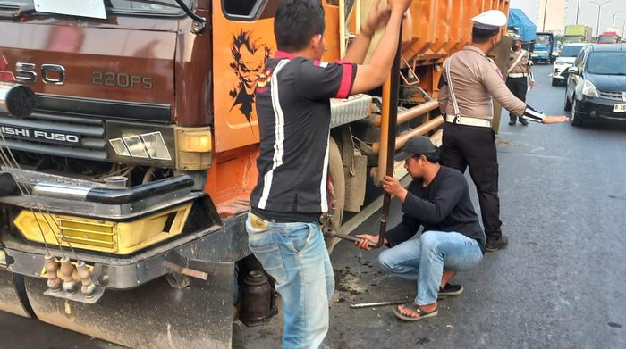
[[456,232],[426,231],[421,237],[383,251],[378,262],[383,270],[402,278],[418,279],[415,303],[435,303],[445,270],[465,271],[478,266],[483,253],[478,242]]

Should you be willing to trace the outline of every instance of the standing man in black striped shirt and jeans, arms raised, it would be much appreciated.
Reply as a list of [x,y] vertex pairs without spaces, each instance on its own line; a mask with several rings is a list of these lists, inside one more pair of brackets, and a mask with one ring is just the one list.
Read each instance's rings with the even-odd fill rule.
[[[387,3],[382,10],[373,4],[360,36],[336,63],[319,61],[326,51],[319,0],[283,0],[276,10],[278,52],[266,62],[266,85],[256,90],[258,183],[246,230],[283,300],[283,348],[319,348],[326,337],[334,275],[318,220],[328,211],[330,98],[385,82],[410,0]],[[385,23],[371,62],[359,65]]]

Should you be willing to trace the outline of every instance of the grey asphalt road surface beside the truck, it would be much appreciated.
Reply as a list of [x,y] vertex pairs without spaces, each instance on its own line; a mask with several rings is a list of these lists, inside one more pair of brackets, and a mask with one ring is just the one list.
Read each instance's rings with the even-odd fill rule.
[[[564,87],[551,66],[536,66],[528,101],[563,114]],[[508,120],[506,112],[503,120]],[[465,292],[440,303],[433,319],[404,323],[391,308],[351,303],[412,298],[412,282],[381,274],[378,252],[349,243],[332,260],[337,292],[326,347],[624,348],[626,347],[626,123],[500,128],[501,218],[510,245],[487,253],[477,270],[453,281]],[[472,190],[475,206],[478,200]],[[400,219],[393,203],[388,222]],[[377,231],[379,216],[355,233]],[[280,315],[245,328],[250,348],[280,346]],[[113,347],[73,332],[0,313],[0,347]]]

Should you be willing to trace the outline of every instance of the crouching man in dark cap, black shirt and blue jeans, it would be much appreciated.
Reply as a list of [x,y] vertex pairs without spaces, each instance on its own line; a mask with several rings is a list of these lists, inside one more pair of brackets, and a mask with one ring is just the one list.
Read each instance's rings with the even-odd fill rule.
[[[402,222],[386,232],[378,262],[385,271],[418,280],[413,302],[393,308],[395,316],[415,321],[437,314],[437,295],[459,295],[461,285],[448,282],[457,271],[478,266],[485,253],[486,236],[469,199],[468,183],[458,170],[443,167],[439,149],[427,137],[411,137],[395,156],[405,161],[413,181],[407,189],[397,179],[385,176],[387,194],[402,201]],[[420,227],[423,233],[414,237]],[[377,236],[357,235],[358,247],[369,250]]]

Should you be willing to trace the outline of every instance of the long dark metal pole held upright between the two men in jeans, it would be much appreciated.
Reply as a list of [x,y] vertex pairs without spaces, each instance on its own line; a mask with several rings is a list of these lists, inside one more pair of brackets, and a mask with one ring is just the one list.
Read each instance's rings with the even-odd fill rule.
[[[388,118],[386,120],[382,120],[382,123],[385,124],[386,121],[386,163],[385,163],[385,175],[393,177],[393,157],[395,156],[395,134],[397,133],[398,128],[398,103],[400,98],[400,56],[402,54],[402,22],[400,23],[400,34],[398,37],[398,48],[395,51],[395,58],[393,59],[393,65],[391,74],[387,82],[385,82],[385,87],[388,88],[389,103],[387,104],[388,110]],[[381,129],[382,131],[382,129]],[[383,135],[381,134],[381,143],[383,139]],[[380,154],[382,155],[382,154]],[[378,171],[380,173],[380,166],[378,166]],[[379,176],[382,178],[382,176]],[[383,197],[383,215],[380,217],[380,229],[378,231],[378,244],[376,247],[381,247],[385,245],[385,231],[387,229],[387,217],[389,216],[389,205],[391,204],[391,195],[385,193]]]

